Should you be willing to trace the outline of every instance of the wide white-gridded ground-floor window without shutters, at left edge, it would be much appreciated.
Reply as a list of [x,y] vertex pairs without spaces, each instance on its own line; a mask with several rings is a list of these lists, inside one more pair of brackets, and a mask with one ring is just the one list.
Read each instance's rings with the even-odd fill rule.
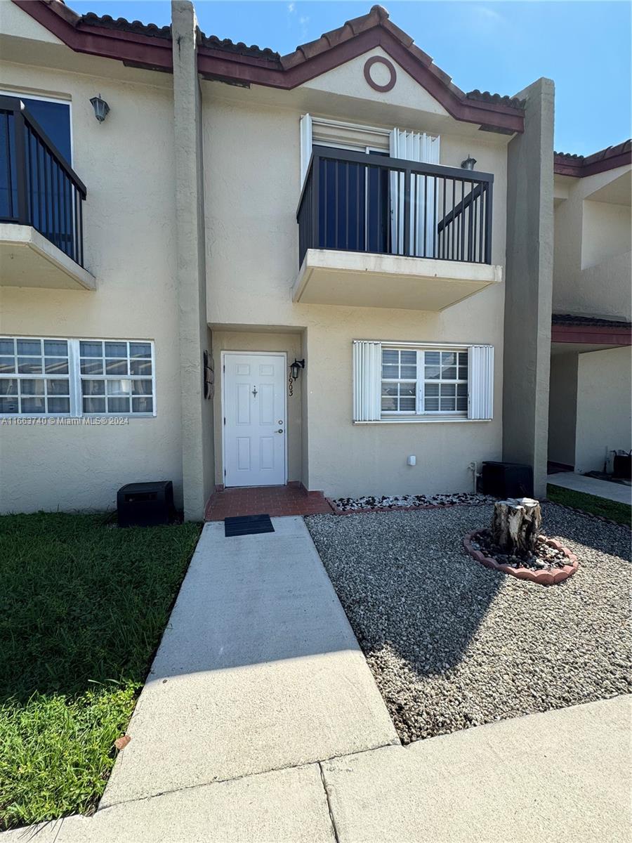
[[153,343],[0,337],[0,415],[155,415]]

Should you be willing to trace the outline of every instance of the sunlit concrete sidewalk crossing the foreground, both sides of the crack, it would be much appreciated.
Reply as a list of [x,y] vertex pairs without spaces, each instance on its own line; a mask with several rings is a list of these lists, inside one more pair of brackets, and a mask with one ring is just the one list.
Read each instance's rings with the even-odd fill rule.
[[630,700],[619,696],[408,747],[187,787],[0,839],[623,843],[631,821]]

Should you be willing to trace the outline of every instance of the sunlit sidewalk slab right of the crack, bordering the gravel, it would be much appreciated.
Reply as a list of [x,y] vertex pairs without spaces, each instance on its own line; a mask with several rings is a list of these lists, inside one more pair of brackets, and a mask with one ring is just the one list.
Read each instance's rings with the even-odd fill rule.
[[340,843],[624,843],[631,699],[326,761]]

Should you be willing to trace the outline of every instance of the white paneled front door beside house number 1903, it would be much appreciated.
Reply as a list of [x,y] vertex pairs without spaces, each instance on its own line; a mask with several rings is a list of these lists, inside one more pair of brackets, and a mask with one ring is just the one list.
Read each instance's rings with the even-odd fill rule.
[[224,485],[286,482],[286,356],[222,352]]

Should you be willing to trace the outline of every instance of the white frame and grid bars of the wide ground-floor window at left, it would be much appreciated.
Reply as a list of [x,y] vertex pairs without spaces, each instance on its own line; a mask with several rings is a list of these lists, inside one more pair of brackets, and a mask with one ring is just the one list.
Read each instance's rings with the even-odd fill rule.
[[[68,374],[62,375],[51,375],[48,376],[46,373],[35,373],[35,374],[21,374],[17,371],[14,373],[0,373],[0,379],[8,380],[8,379],[46,379],[48,378],[67,378],[70,381],[70,412],[69,413],[34,413],[34,412],[26,412],[26,413],[0,413],[0,418],[8,418],[8,419],[15,419],[15,418],[153,418],[157,415],[157,396],[156,396],[156,347],[154,345],[153,340],[147,339],[127,339],[122,337],[80,337],[80,338],[69,338],[66,336],[33,336],[28,334],[3,334],[0,335],[0,340],[39,340],[39,341],[66,341],[68,344]],[[122,374],[97,374],[97,375],[82,375],[81,373],[81,355],[80,355],[80,345],[81,342],[126,342],[126,343],[134,343],[134,342],[142,342],[147,343],[151,346],[152,352],[152,412],[150,413],[135,413],[135,412],[102,412],[102,413],[88,413],[83,412],[83,393],[82,393],[82,385],[81,382],[83,379],[87,380],[103,380],[104,382],[107,380],[149,380],[149,376],[145,375],[122,375]],[[128,346],[129,351],[129,346]],[[43,352],[43,346],[42,346]],[[17,359],[17,357],[16,357]],[[44,354],[42,354],[42,361],[44,360]],[[129,361],[131,358],[127,357]],[[19,386],[18,386],[19,389]],[[107,387],[106,387],[107,389]],[[107,406],[107,402],[106,402]],[[131,395],[130,395],[130,407],[131,407]]]

